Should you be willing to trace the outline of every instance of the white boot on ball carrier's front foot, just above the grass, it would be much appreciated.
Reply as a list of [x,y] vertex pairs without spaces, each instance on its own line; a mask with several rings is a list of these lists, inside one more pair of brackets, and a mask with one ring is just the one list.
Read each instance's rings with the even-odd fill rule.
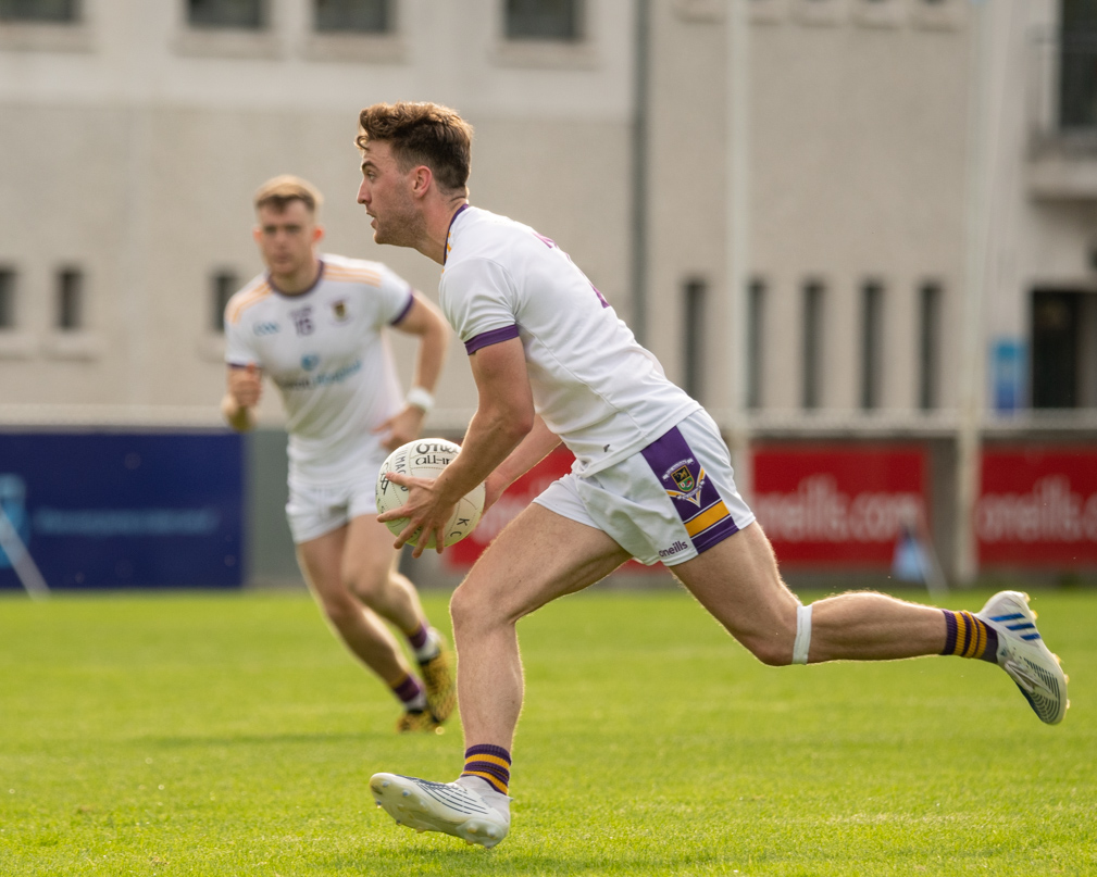
[[441,831],[490,847],[510,830],[510,798],[498,791],[399,774],[374,774],[370,790],[397,825],[419,832]]

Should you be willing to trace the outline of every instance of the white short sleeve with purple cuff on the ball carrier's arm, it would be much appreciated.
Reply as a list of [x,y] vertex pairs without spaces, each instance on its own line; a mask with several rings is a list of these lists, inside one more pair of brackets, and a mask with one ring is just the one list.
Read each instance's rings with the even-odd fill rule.
[[465,350],[518,337],[518,301],[509,273],[490,259],[465,259],[442,275],[442,309]]

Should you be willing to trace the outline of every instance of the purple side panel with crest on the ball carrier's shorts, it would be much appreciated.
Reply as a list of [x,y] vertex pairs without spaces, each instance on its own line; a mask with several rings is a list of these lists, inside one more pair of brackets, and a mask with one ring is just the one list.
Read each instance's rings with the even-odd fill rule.
[[[724,505],[720,491],[705,475],[700,460],[677,426],[656,438],[641,453],[670,497],[670,502],[681,517],[682,524],[692,521],[717,503]],[[731,514],[727,514],[698,533],[690,542],[693,543],[698,554],[701,554],[737,533],[738,529]]]

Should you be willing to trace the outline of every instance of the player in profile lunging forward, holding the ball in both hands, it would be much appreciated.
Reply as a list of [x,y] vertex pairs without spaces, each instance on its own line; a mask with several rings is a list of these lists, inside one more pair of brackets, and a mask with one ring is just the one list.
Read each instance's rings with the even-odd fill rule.
[[712,419],[552,240],[468,205],[471,127],[423,103],[375,104],[359,121],[358,200],[374,240],[443,266],[442,309],[478,390],[461,455],[437,479],[394,476],[408,502],[381,519],[409,519],[398,544],[421,527],[441,545],[455,501],[474,486],[486,481],[490,505],[561,441],[576,456],[453,594],[465,767],[453,783],[374,775],[375,800],[399,823],[485,846],[506,836],[522,704],[514,625],[630,557],[665,563],[767,664],[981,658],[1009,673],[1043,721],[1062,720],[1066,680],[1024,594],[999,593],[979,613],[879,593],[802,605],[736,491]]

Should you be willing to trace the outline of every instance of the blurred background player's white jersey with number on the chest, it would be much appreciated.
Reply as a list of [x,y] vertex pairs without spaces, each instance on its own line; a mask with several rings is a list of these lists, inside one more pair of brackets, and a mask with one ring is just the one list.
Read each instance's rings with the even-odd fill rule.
[[324,255],[310,289],[285,295],[262,274],[225,308],[225,358],[255,364],[282,394],[290,478],[330,485],[374,471],[372,430],[403,408],[383,335],[410,310],[411,287],[380,262]]

